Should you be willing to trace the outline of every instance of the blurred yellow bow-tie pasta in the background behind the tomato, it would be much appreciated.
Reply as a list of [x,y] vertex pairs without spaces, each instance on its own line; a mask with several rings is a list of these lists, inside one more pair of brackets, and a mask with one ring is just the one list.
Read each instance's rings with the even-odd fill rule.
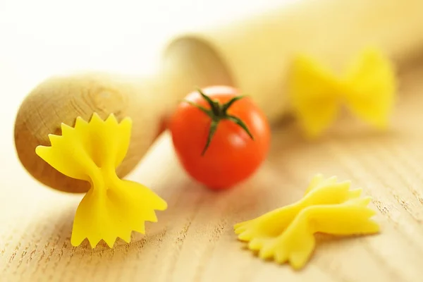
[[342,75],[312,57],[296,57],[290,69],[288,94],[307,137],[317,137],[329,128],[343,105],[374,127],[386,128],[396,85],[391,61],[378,49],[368,48]]

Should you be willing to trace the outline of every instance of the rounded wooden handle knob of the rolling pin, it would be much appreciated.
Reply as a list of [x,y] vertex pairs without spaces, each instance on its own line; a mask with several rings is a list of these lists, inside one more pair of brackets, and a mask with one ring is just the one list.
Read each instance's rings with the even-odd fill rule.
[[[16,116],[14,137],[20,162],[44,185],[66,192],[87,192],[90,183],[64,176],[35,154],[38,145],[49,146],[49,134],[61,135],[61,123],[74,126],[81,116],[89,121],[96,112],[101,118],[115,114],[118,121],[133,119],[127,157],[118,166],[125,176],[140,161],[159,130],[159,100],[151,81],[121,78],[107,73],[81,73],[44,80],[24,99]],[[150,108],[143,114],[144,105]]]

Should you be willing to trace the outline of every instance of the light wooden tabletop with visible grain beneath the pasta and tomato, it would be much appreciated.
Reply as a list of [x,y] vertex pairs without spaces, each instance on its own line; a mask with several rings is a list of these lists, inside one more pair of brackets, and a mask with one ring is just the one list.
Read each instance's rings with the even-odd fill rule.
[[[1,178],[0,281],[402,281],[423,276],[423,64],[401,74],[393,128],[375,133],[350,116],[306,142],[295,123],[274,129],[269,159],[247,183],[205,190],[178,166],[167,134],[130,175],[168,201],[147,235],[130,244],[70,244],[82,195],[35,182],[13,162]],[[13,173],[13,174],[11,174]],[[319,236],[302,271],[263,262],[236,240],[233,224],[298,200],[314,173],[350,179],[373,197],[381,234]]]

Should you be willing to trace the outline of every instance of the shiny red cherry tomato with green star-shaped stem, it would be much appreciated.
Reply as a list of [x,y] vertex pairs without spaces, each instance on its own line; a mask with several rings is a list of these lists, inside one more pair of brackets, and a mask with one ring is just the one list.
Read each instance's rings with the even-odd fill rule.
[[240,96],[233,87],[191,92],[178,105],[168,128],[185,171],[214,190],[231,188],[249,178],[269,151],[271,131],[266,116],[250,97]]

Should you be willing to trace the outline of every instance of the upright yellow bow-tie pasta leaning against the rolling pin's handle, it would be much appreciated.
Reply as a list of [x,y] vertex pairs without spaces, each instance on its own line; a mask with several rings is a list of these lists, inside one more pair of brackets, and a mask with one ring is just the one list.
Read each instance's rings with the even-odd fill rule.
[[113,247],[116,238],[130,242],[132,231],[145,233],[145,221],[157,221],[154,210],[167,204],[140,183],[121,180],[116,167],[128,150],[132,121],[106,121],[93,114],[89,123],[78,117],[75,128],[62,123],[62,135],[49,135],[51,147],[36,153],[57,171],[92,185],[80,202],[73,222],[71,244],[85,238],[94,248],[100,240]]

